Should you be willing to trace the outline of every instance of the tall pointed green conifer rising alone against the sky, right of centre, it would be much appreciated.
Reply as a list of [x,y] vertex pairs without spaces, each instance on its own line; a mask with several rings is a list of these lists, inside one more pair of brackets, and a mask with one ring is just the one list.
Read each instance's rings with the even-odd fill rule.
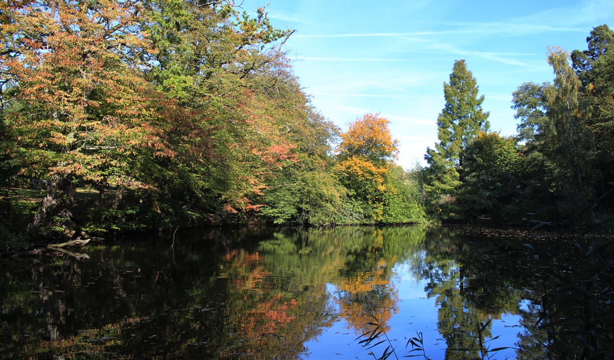
[[437,117],[439,143],[435,149],[429,147],[424,156],[429,163],[425,190],[452,195],[461,184],[462,151],[480,131],[489,129],[489,112],[482,109],[484,95],[478,96],[478,85],[465,60],[454,62],[450,81],[443,84],[443,95],[446,104]]

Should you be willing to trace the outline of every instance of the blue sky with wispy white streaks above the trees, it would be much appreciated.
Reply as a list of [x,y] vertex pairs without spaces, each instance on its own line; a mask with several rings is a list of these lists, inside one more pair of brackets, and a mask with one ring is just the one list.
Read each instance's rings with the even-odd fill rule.
[[[295,74],[325,117],[344,130],[381,112],[400,143],[398,163],[424,163],[437,141],[443,82],[454,60],[476,77],[492,130],[516,133],[511,93],[553,78],[548,45],[586,49],[595,26],[614,27],[614,1],[270,0]],[[267,1],[246,0],[251,12]]]

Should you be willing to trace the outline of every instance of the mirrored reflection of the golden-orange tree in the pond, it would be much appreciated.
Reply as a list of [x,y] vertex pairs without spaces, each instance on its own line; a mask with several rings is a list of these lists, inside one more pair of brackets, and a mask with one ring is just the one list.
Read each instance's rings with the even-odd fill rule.
[[[393,267],[410,257],[416,246],[438,233],[437,230],[421,228],[354,227],[335,229],[330,232],[333,241],[324,236],[314,237],[316,248],[335,246],[335,253],[343,257],[338,267],[335,302],[340,315],[357,335],[370,330],[368,323],[376,316],[387,331],[387,322],[398,313],[398,293],[394,283]],[[322,235],[322,234],[320,234]]]

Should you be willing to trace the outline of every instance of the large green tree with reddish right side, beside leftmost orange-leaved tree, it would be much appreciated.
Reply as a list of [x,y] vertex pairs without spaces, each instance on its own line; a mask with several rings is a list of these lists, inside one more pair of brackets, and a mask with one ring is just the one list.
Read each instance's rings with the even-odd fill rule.
[[260,208],[254,197],[267,176],[295,157],[260,94],[281,80],[286,60],[271,43],[290,31],[274,29],[263,8],[250,18],[230,2],[157,1],[148,10],[155,52],[144,77],[174,104],[158,126],[176,155],[139,162],[157,184],[142,195],[143,221],[171,227]]

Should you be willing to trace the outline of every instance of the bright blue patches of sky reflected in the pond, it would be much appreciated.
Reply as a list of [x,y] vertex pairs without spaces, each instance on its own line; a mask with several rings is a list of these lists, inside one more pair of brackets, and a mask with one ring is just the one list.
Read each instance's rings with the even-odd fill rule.
[[[421,257],[424,257],[422,252]],[[457,270],[456,268],[454,268]],[[419,280],[416,282],[414,269],[411,268],[409,262],[396,264],[394,266],[392,283],[398,291],[399,302],[397,304],[398,313],[392,315],[387,325],[391,328],[388,337],[395,346],[398,358],[405,355],[405,344],[408,338],[415,337],[417,332],[422,332],[424,336],[424,350],[430,359],[438,360],[445,358],[446,341],[441,337],[437,329],[437,310],[435,303],[436,297],[427,298],[424,291],[428,281]],[[330,294],[330,305],[335,311],[340,311],[339,305],[335,302],[336,287],[333,284],[327,284],[327,293]],[[530,310],[529,300],[522,300],[519,303],[521,310]],[[310,360],[328,360],[328,359],[373,359],[373,356],[368,354],[370,350],[363,350],[356,340],[356,335],[352,330],[348,329],[348,323],[343,318],[343,314],[339,314],[340,318],[332,327],[324,329],[322,334],[313,340],[306,342],[306,356],[303,359]],[[516,358],[515,343],[518,341],[518,333],[523,331],[523,327],[519,325],[521,316],[513,314],[501,315],[501,319],[492,320],[491,334],[497,337],[488,342],[487,346],[490,349],[499,347],[511,347],[509,349],[500,350],[492,355],[492,359],[514,359]],[[488,339],[487,339],[488,340]],[[387,342],[376,346],[371,351],[379,358],[387,346]],[[411,345],[407,351],[411,350]],[[419,354],[414,351],[411,354]],[[391,358],[394,358],[392,356]],[[421,359],[421,356],[417,356]]]

